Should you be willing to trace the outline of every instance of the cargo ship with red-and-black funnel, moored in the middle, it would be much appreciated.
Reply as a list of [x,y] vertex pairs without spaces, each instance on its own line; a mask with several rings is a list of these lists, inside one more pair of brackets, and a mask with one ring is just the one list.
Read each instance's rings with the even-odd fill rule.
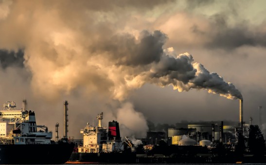
[[106,128],[102,125],[103,113],[98,114],[97,119],[97,126],[87,123],[81,129],[83,145],[77,146],[68,163],[136,163],[132,143],[120,137],[119,123],[110,121]]

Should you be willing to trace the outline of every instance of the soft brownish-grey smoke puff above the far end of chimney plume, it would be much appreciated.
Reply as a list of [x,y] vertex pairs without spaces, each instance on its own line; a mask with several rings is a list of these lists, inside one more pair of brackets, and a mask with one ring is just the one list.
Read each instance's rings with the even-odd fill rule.
[[153,33],[142,31],[139,42],[130,34],[115,35],[104,43],[96,43],[100,46],[95,51],[108,52],[112,60],[117,61],[117,65],[147,65],[160,61],[166,38],[166,35],[158,30]]

